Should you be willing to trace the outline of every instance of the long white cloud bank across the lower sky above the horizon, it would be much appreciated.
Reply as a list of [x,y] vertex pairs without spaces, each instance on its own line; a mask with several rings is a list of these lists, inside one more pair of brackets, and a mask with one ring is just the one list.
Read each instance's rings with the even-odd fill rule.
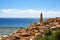
[[0,18],[39,18],[40,13],[43,13],[44,18],[60,17],[58,11],[43,11],[36,9],[0,9]]

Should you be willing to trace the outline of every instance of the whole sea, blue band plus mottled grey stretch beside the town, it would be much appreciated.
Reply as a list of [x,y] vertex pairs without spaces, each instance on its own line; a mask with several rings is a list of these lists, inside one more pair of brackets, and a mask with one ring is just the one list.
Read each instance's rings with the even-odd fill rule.
[[[0,36],[8,35],[18,28],[29,27],[30,22],[39,22],[39,18],[0,18]],[[43,21],[47,18],[43,18]]]

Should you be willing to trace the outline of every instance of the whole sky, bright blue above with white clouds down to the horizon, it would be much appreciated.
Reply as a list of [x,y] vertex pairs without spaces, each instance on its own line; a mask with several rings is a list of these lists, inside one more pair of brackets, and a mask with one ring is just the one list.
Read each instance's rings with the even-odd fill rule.
[[60,17],[60,0],[0,0],[0,18]]

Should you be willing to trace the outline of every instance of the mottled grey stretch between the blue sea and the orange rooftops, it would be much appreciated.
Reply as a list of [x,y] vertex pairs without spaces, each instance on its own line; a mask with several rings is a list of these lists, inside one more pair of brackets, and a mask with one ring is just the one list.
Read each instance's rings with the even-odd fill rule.
[[19,29],[19,27],[0,27],[0,36],[8,35],[17,29]]

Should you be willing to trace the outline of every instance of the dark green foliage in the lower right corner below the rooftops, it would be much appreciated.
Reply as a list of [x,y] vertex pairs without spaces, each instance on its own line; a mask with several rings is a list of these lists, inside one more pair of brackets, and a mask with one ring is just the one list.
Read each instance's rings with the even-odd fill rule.
[[39,37],[39,38],[37,38],[37,40],[60,40],[60,28],[57,29],[54,33],[52,33],[52,31],[50,31],[50,29],[48,29],[45,32],[45,36]]

